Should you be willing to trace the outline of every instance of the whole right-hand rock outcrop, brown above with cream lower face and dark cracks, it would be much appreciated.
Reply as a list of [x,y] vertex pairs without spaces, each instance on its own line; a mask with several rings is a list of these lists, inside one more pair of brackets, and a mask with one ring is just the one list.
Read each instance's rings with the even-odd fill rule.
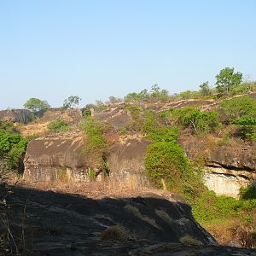
[[256,179],[256,144],[211,145],[207,140],[189,137],[182,142],[183,148],[191,159],[201,154],[206,160],[203,179],[207,188],[217,195],[239,197],[241,187]]

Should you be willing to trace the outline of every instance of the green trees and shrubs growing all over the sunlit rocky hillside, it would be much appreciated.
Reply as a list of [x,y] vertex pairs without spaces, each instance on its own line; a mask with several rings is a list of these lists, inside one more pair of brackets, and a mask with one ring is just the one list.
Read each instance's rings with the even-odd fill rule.
[[[254,229],[256,190],[253,185],[241,189],[239,200],[215,195],[203,184],[203,161],[195,163],[195,160],[190,160],[178,143],[181,135],[198,139],[213,137],[215,146],[221,143],[228,144],[232,140],[239,143],[255,143],[256,101],[249,95],[241,94],[256,90],[256,83],[242,82],[241,73],[235,72],[234,68],[226,67],[216,75],[215,85],[216,87],[211,87],[207,81],[199,86],[198,91],[186,90],[170,96],[167,90],[160,89],[158,84],[154,84],[151,90],[131,92],[124,99],[110,96],[109,102],[122,102],[122,111],[131,116],[131,122],[123,126],[119,131],[120,135],[139,134],[152,142],[147,148],[144,164],[148,180],[153,186],[165,187],[183,195],[192,206],[196,220],[205,227],[222,227],[220,223],[223,221],[234,228],[235,219],[235,222],[241,222],[245,227]],[[200,106],[166,107],[163,111],[154,111],[150,107],[190,99],[216,99],[219,107],[214,110],[202,110]],[[79,96],[70,96],[64,101],[63,107],[76,108],[79,101]],[[33,113],[49,108],[47,102],[37,98],[28,100],[24,106]],[[109,127],[93,117],[94,111],[101,112],[106,108],[106,104],[101,101],[88,104],[79,125],[85,135],[84,155],[90,166],[91,180],[96,178],[98,172],[108,172],[106,156],[109,147]],[[66,121],[57,119],[51,122],[48,128],[49,131],[63,132],[69,127]],[[15,126],[8,122],[0,123],[0,164],[6,170],[21,170],[25,150],[26,140],[17,133]],[[238,236],[237,229],[233,231]],[[255,233],[256,231],[252,230],[247,236],[253,237]],[[256,245],[251,242],[246,246]]]

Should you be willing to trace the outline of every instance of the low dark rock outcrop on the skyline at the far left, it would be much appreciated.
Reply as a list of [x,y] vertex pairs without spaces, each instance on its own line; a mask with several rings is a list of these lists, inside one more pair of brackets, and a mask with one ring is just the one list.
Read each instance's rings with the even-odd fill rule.
[[0,122],[27,124],[32,121],[32,113],[27,109],[7,109],[0,111]]

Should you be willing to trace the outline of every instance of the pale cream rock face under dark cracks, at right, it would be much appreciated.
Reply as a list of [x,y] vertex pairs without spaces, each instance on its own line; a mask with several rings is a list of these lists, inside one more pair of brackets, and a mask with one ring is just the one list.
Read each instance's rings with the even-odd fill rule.
[[217,195],[228,195],[238,199],[241,187],[253,183],[253,173],[207,166],[204,168],[203,180],[207,188]]

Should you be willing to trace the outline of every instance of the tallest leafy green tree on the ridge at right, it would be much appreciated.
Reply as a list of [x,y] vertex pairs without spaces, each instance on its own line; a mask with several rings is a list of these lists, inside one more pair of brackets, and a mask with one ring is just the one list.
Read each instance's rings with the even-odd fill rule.
[[218,90],[218,94],[222,95],[230,95],[232,89],[236,87],[236,85],[241,84],[242,73],[236,72],[234,73],[234,67],[225,67],[222,69],[218,75],[216,76],[216,89]]

